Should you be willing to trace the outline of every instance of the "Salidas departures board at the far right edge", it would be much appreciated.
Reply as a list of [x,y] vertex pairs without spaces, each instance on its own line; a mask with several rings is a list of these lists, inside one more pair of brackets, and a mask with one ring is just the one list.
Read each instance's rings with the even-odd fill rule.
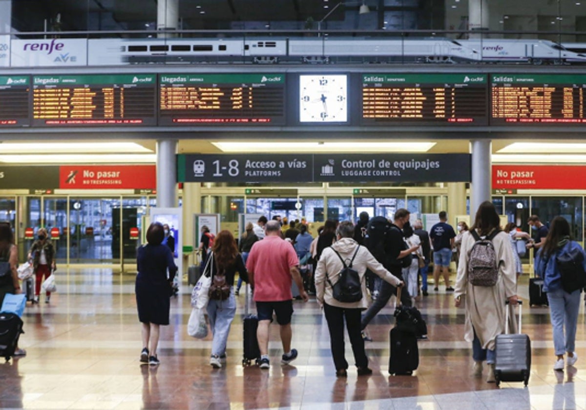
[[586,76],[492,74],[491,125],[583,124]]

